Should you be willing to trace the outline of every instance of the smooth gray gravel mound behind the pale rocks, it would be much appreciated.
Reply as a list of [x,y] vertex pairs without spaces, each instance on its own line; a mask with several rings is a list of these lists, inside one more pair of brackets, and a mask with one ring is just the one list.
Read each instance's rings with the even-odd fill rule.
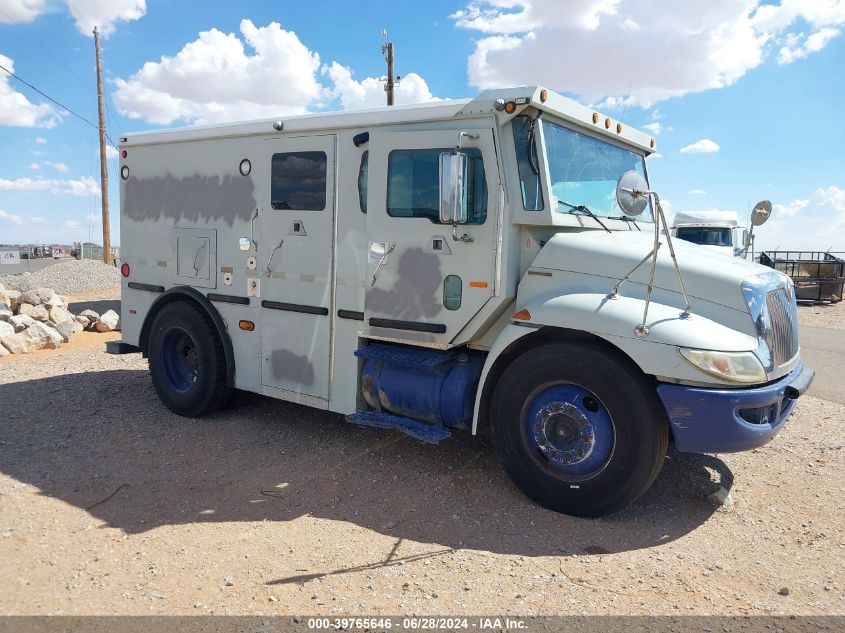
[[114,266],[93,259],[70,260],[48,266],[31,274],[0,277],[0,284],[10,290],[52,288],[61,295],[87,292],[120,283],[120,272]]

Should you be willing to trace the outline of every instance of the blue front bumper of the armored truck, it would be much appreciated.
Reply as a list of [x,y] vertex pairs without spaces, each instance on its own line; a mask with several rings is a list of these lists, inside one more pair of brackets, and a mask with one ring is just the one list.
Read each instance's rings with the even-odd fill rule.
[[765,387],[705,389],[662,384],[657,393],[678,450],[733,453],[762,446],[777,435],[814,375],[799,364]]

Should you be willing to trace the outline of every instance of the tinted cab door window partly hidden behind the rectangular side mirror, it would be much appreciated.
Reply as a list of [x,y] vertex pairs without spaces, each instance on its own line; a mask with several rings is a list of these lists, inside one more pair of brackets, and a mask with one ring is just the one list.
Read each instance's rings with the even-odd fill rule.
[[[440,154],[451,148],[402,149],[387,158],[387,214],[440,221]],[[481,150],[463,150],[467,165],[468,224],[487,219],[487,180]]]

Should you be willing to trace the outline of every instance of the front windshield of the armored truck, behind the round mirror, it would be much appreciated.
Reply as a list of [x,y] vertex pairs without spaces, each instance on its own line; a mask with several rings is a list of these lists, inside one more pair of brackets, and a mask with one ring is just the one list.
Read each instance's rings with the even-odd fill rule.
[[[593,136],[541,119],[552,193],[603,217],[624,216],[616,204],[616,182],[626,171],[645,176],[645,158]],[[560,213],[573,209],[558,206]],[[651,203],[637,220],[652,221]]]

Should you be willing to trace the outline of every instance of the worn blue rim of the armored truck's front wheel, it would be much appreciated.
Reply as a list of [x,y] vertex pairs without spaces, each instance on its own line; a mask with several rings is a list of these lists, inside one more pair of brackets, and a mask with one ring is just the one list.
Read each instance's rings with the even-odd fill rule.
[[607,407],[590,390],[573,384],[544,387],[528,398],[523,412],[524,437],[545,468],[586,479],[607,466],[616,429]]

